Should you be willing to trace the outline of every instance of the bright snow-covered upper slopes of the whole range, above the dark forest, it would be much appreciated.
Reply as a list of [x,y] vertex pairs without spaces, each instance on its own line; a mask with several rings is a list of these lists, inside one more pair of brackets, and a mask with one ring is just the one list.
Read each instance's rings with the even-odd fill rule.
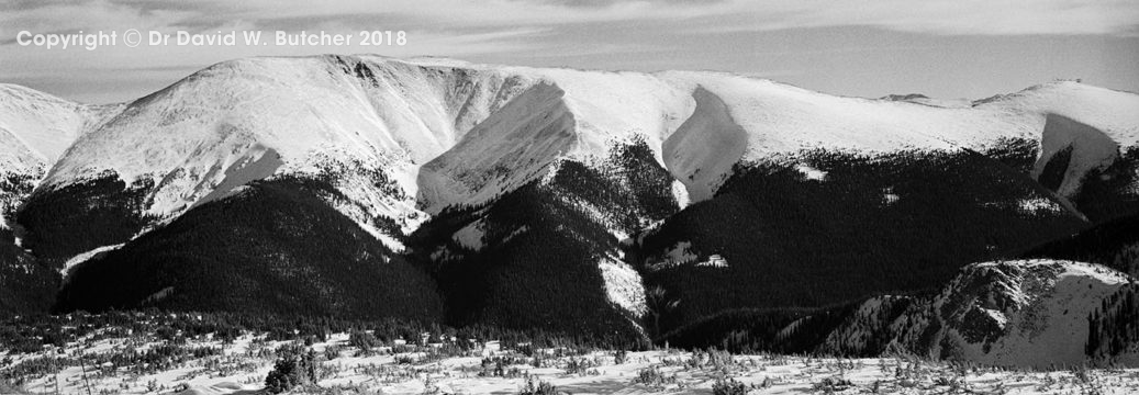
[[[14,101],[5,104],[30,107]],[[46,105],[31,109],[35,106]],[[336,175],[351,200],[342,211],[362,224],[388,217],[407,232],[423,217],[419,209],[485,201],[540,176],[557,158],[605,158],[612,141],[639,134],[693,200],[708,198],[740,159],[769,161],[816,147],[984,150],[1002,139],[1042,141],[1038,176],[1051,156],[1073,146],[1073,164],[1058,187],[1071,197],[1083,174],[1139,141],[1133,108],[1139,108],[1134,94],[1076,83],[939,108],[714,73],[368,56],[253,58],[211,66],[129,104],[81,137],[41,190],[106,171],[128,184],[149,179],[154,187],[141,208],[169,219],[276,173],[352,173]],[[46,163],[85,122],[74,113],[46,117],[54,123],[43,127],[62,138],[25,138]],[[398,194],[372,194],[369,174],[380,168]]]

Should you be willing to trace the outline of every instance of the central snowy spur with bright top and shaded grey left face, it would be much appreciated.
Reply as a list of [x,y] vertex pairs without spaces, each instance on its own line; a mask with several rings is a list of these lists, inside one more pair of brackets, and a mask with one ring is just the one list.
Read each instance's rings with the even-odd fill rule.
[[614,145],[634,139],[663,164],[664,140],[695,106],[689,91],[649,74],[446,64],[494,67],[535,84],[423,168],[420,205],[429,213],[484,203],[547,175],[557,159],[600,166]]

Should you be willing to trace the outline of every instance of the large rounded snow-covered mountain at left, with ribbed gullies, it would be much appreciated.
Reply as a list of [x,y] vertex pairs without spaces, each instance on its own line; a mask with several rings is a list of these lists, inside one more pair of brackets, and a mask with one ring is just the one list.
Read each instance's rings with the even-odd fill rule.
[[129,104],[83,135],[40,189],[107,174],[145,180],[153,187],[140,214],[169,220],[273,174],[327,176],[349,198],[338,208],[390,237],[371,219],[413,229],[417,168],[524,84],[492,69],[441,73],[379,58],[222,63]]

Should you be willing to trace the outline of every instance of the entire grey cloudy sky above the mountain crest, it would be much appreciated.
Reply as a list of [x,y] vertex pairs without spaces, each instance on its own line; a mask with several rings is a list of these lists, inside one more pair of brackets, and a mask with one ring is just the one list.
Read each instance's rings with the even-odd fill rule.
[[[167,44],[129,47],[138,30]],[[27,34],[116,32],[48,49]],[[178,32],[237,46],[177,46]],[[244,32],[349,34],[351,46],[246,46]],[[403,31],[403,46],[360,44]],[[25,36],[26,38],[26,36]],[[146,39],[144,41],[146,41]],[[984,98],[1056,79],[1139,92],[1136,0],[0,0],[0,83],[129,101],[228,59],[378,54],[588,69],[711,69],[833,94]]]

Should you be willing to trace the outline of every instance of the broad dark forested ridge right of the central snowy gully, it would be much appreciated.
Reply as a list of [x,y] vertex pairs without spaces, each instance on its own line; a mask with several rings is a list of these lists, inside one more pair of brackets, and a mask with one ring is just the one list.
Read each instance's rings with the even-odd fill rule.
[[[638,264],[649,287],[681,301],[665,328],[732,308],[822,306],[935,288],[965,264],[1015,256],[1088,227],[1015,159],[819,150],[798,164],[739,164],[714,198],[645,234]],[[823,179],[806,178],[800,165]],[[662,265],[682,242],[693,261],[714,254],[727,268]]]

